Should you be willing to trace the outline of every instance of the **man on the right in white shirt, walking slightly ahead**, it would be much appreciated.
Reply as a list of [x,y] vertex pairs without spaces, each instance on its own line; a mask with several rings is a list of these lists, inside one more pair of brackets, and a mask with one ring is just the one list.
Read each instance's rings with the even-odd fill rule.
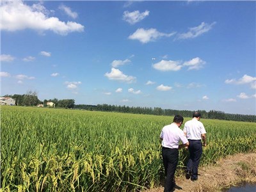
[[201,114],[198,111],[193,113],[193,119],[189,120],[184,125],[184,134],[189,141],[189,160],[187,164],[186,179],[197,180],[198,179],[198,166],[200,163],[200,157],[202,156],[202,142],[206,146],[206,131],[204,124],[200,122]]

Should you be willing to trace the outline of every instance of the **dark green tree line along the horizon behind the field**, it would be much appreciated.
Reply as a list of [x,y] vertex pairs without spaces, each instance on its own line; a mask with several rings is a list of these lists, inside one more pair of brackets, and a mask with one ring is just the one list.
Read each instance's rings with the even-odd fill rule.
[[[129,106],[115,106],[109,104],[97,104],[97,105],[87,105],[87,104],[75,104],[74,99],[45,99],[41,101],[37,97],[36,92],[28,91],[23,95],[4,95],[3,97],[12,97],[15,99],[16,106],[37,106],[38,104],[43,104],[47,107],[47,102],[53,102],[55,108],[66,108],[66,109],[84,109],[90,111],[112,111],[119,113],[134,113],[134,114],[147,114],[147,115],[165,115],[174,116],[182,115],[184,117],[192,117],[193,111],[189,110],[177,110],[177,109],[162,109],[162,108],[147,108],[147,107],[129,107]],[[49,107],[49,106],[48,106]],[[256,122],[256,115],[241,115],[241,114],[230,114],[224,113],[223,111],[209,112],[205,110],[200,111],[202,118],[218,119],[218,120],[234,120],[239,122]]]

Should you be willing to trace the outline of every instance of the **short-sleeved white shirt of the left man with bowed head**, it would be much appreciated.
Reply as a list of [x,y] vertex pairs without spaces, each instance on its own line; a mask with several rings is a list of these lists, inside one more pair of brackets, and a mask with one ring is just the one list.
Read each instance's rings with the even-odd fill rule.
[[163,139],[162,146],[167,148],[179,148],[179,141],[188,143],[184,132],[175,123],[164,126],[160,138]]

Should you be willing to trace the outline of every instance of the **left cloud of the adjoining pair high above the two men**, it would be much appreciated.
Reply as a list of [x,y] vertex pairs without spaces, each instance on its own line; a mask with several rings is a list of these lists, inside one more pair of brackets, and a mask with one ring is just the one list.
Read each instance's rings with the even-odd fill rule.
[[155,63],[153,67],[161,71],[169,71],[169,70],[177,71],[177,70],[180,70],[180,68],[182,68],[182,65],[180,65],[180,61],[161,60],[159,63]]

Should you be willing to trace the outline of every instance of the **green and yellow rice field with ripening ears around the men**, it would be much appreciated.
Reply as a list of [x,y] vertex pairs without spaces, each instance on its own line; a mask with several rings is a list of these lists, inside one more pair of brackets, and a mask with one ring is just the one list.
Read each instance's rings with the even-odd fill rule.
[[[172,120],[1,106],[0,191],[143,191],[158,186],[164,178],[159,134]],[[256,149],[255,123],[201,121],[208,144],[201,166]],[[177,175],[188,151],[179,155]]]

